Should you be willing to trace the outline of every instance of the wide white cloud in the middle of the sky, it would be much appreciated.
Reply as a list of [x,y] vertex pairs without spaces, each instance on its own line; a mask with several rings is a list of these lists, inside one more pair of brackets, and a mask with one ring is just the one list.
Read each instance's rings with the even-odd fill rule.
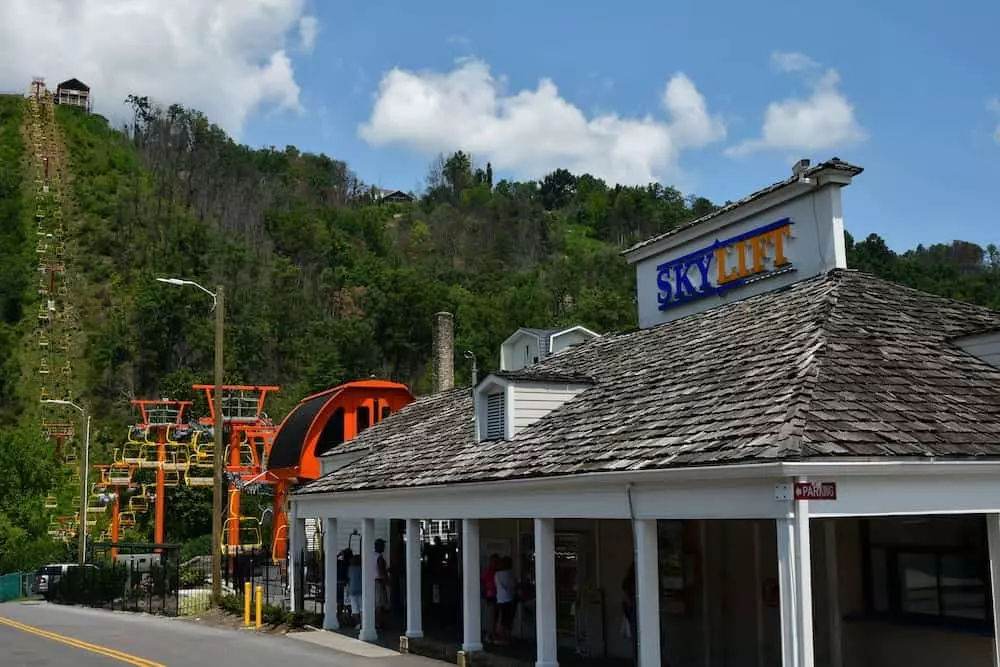
[[398,144],[428,155],[466,150],[497,169],[539,177],[557,167],[623,184],[672,175],[681,150],[725,137],[721,119],[684,74],[666,84],[652,115],[588,118],[542,79],[508,94],[486,63],[460,60],[447,73],[393,69],[382,77],[370,118],[358,128],[368,143]]

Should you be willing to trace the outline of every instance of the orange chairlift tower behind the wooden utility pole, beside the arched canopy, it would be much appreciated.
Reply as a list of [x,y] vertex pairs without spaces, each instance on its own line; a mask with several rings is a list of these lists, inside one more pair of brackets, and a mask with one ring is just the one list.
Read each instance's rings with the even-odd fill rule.
[[[206,427],[215,424],[215,385],[196,384],[194,389],[205,392],[208,400],[209,416],[200,419]],[[225,477],[229,481],[229,498],[226,503],[226,518],[222,526],[225,535],[222,546],[223,555],[235,556],[242,549],[256,549],[262,546],[260,519],[256,516],[243,516],[240,512],[240,501],[246,484],[266,484],[265,460],[271,449],[274,438],[274,423],[264,412],[269,394],[277,393],[280,388],[273,385],[223,385],[222,386],[222,427],[225,434],[225,459],[223,461]],[[214,456],[214,454],[212,454]],[[212,477],[209,469],[213,460],[206,456],[197,461],[198,476],[189,477],[188,483],[194,486],[204,484]],[[189,475],[191,469],[189,468]]]

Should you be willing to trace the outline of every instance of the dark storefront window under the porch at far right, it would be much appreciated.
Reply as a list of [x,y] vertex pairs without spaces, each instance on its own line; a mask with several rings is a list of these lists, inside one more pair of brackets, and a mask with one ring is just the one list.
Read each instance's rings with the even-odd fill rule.
[[981,517],[872,519],[864,532],[870,611],[941,622],[989,620]]

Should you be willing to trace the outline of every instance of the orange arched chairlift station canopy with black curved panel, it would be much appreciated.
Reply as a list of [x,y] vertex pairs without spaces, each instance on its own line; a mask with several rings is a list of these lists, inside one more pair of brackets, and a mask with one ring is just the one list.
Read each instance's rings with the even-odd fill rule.
[[301,480],[319,477],[319,457],[414,400],[406,385],[348,382],[299,401],[278,427],[267,468]]

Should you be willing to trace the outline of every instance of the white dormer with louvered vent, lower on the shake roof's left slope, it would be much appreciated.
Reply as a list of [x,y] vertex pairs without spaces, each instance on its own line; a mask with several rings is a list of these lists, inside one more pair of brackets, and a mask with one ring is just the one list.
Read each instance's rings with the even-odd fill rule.
[[592,384],[555,373],[490,373],[473,390],[476,441],[510,440]]

